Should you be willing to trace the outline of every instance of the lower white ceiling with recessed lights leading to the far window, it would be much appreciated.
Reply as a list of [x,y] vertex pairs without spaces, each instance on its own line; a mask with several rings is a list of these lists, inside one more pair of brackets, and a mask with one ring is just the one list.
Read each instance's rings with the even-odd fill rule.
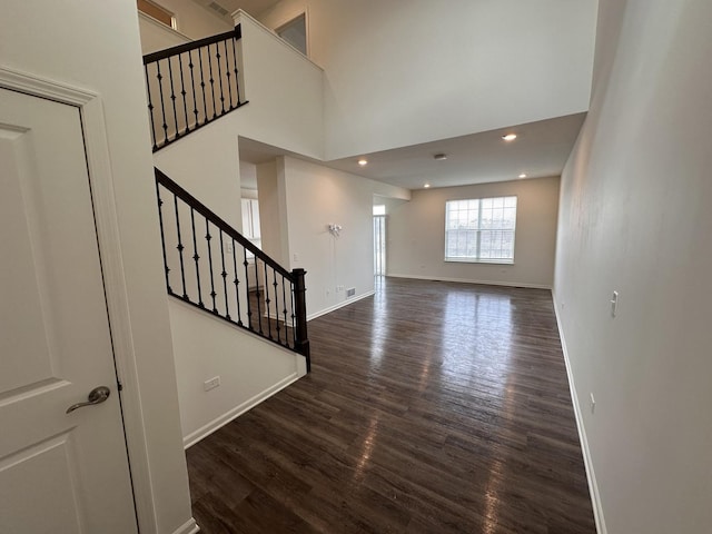
[[[363,176],[407,189],[464,186],[561,175],[571,154],[585,113],[530,122],[469,136],[443,139],[382,152],[357,155],[320,165]],[[515,132],[512,142],[502,140],[505,134]],[[240,138],[240,159],[261,164],[277,156],[288,155],[284,150],[250,139]],[[447,155],[436,161],[436,154]],[[299,157],[291,154],[291,156]],[[360,167],[358,159],[365,157],[368,165]],[[303,158],[305,159],[305,158]]]

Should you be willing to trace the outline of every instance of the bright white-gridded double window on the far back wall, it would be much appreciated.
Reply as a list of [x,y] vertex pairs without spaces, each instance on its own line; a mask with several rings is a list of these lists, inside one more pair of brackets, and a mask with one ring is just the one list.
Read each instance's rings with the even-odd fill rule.
[[448,200],[445,261],[514,263],[516,197]]

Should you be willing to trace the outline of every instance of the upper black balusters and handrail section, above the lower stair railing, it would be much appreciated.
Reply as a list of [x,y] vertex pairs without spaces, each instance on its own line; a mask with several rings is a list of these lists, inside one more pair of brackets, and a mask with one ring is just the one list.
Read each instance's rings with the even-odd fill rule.
[[219,36],[144,56],[154,151],[247,103],[240,26]]

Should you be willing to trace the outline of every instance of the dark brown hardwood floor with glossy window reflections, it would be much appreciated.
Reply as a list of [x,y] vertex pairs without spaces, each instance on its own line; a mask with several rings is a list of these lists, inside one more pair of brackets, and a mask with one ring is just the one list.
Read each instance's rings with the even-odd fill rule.
[[219,533],[595,533],[550,291],[385,278],[187,451]]

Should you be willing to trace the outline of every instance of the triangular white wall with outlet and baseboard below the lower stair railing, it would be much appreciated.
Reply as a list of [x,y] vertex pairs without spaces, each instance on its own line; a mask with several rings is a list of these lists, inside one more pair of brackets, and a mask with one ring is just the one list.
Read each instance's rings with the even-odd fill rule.
[[[303,356],[179,300],[169,309],[186,446],[306,374]],[[220,385],[206,392],[217,376]]]

